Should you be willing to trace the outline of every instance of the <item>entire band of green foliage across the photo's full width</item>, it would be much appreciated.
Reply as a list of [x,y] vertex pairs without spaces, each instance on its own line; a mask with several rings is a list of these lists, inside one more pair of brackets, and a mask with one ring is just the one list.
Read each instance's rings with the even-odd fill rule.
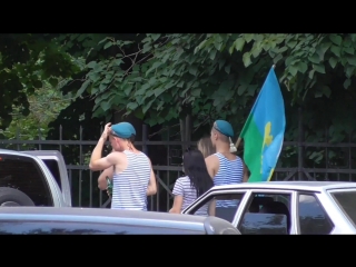
[[[330,141],[345,141],[356,127],[349,116],[356,111],[355,42],[352,33],[8,34],[0,43],[0,127],[11,121],[13,105],[28,113],[28,96],[40,81],[55,86],[55,78],[72,77],[63,93],[77,97],[71,110],[76,102],[92,106],[87,117],[123,111],[155,126],[190,116],[195,128],[224,118],[238,134],[275,63],[286,140],[298,138],[300,107],[307,141],[323,141],[326,132]],[[78,58],[86,60],[82,68]],[[283,157],[293,155],[290,148]],[[309,152],[315,162],[324,156]]]

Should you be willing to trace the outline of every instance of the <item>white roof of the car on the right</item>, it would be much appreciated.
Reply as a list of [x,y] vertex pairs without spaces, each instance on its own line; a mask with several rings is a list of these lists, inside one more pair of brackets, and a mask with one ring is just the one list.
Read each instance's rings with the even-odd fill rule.
[[323,191],[332,189],[356,189],[356,182],[348,181],[260,181],[241,182],[228,186],[215,186],[210,190],[228,189],[289,189],[304,191]]

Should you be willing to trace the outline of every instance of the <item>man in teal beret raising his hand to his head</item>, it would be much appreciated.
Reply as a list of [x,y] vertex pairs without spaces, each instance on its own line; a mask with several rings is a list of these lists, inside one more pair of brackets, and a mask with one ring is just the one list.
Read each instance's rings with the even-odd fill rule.
[[[136,130],[129,122],[107,123],[91,154],[91,170],[113,170],[111,209],[147,210],[147,195],[157,191],[151,162],[135,148],[135,136]],[[113,151],[101,158],[108,138]]]

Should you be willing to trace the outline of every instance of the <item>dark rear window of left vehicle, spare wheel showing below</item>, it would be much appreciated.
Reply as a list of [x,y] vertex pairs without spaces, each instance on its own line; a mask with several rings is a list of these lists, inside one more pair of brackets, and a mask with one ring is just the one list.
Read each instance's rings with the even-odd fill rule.
[[[44,174],[38,164],[28,157],[1,155],[0,187],[10,187],[20,192],[16,202],[23,202],[29,197],[36,206],[53,206],[53,199]],[[6,194],[4,191],[1,194]],[[23,194],[27,195],[23,197]],[[22,195],[22,197],[21,197]],[[14,195],[13,195],[14,196]],[[1,199],[6,198],[0,196]],[[13,200],[13,199],[12,199]]]

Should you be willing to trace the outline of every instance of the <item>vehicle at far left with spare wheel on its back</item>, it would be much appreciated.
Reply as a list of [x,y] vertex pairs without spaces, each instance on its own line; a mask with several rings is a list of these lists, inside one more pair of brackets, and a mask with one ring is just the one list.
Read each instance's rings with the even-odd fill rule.
[[0,149],[0,207],[71,207],[70,182],[56,150]]

